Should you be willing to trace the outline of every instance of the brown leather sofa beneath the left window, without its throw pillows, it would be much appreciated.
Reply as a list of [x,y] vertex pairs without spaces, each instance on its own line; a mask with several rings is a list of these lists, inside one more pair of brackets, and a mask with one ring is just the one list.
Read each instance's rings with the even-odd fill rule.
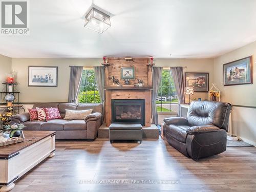
[[[11,116],[11,124],[23,123],[24,130],[57,131],[56,139],[88,139],[94,140],[97,137],[98,129],[102,124],[102,104],[100,103],[35,103],[33,108],[58,108],[62,119],[50,121],[30,121],[29,113],[22,113]],[[92,114],[84,120],[63,119],[68,110],[93,109]]]

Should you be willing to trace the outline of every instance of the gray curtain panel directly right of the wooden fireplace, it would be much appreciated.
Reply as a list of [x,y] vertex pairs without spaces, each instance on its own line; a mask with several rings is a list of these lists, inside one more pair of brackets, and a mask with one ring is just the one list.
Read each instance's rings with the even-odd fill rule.
[[153,67],[152,118],[153,118],[153,123],[156,125],[158,124],[156,99],[157,99],[160,82],[162,79],[162,71],[163,71],[162,67]]

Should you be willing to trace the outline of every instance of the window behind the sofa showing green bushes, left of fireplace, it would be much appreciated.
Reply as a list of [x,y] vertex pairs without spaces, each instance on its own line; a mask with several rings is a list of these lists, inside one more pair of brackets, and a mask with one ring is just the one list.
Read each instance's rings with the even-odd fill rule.
[[93,68],[84,68],[82,71],[78,103],[100,103]]

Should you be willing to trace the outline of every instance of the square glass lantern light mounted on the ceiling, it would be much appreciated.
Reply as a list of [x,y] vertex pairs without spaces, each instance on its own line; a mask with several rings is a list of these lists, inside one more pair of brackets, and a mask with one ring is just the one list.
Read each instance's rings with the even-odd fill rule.
[[111,27],[110,16],[93,7],[86,15],[84,27],[103,33]]

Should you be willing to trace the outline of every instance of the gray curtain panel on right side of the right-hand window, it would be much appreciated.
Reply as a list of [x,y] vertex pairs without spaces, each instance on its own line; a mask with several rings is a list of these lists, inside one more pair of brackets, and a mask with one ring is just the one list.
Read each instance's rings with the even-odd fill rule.
[[176,93],[179,98],[179,115],[180,115],[180,104],[185,103],[185,84],[184,84],[183,67],[171,67],[170,70],[172,71]]

